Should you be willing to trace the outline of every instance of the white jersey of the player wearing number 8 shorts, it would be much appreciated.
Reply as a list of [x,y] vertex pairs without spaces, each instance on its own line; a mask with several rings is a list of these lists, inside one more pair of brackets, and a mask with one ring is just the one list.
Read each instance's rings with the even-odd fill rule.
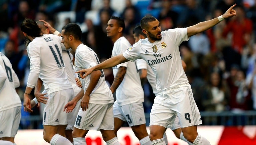
[[[99,64],[99,59],[97,57],[97,54],[88,46],[84,44],[80,44],[76,49],[75,54],[75,67],[76,71],[93,67],[97,64]],[[93,89],[91,95],[90,95],[90,101],[91,104],[109,104],[114,102],[113,94],[110,91],[104,77],[103,70],[101,71],[101,77]],[[87,76],[85,79],[80,79],[83,85],[84,92],[88,88],[88,85],[90,83],[91,75]]]

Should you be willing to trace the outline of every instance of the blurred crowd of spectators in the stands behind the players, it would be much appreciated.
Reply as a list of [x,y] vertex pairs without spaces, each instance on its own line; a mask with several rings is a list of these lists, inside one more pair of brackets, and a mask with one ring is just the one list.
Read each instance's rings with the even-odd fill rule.
[[[20,31],[25,18],[45,20],[59,31],[78,24],[82,42],[103,61],[113,48],[105,30],[112,15],[124,19],[124,36],[133,44],[132,30],[145,15],[156,17],[164,31],[216,18],[234,3],[237,16],[191,36],[180,45],[181,58],[200,111],[256,110],[256,0],[1,0],[0,51],[20,79],[22,100],[29,72],[26,37]],[[112,69],[104,72],[112,84]],[[143,88],[145,112],[150,112],[154,94],[149,84]]]

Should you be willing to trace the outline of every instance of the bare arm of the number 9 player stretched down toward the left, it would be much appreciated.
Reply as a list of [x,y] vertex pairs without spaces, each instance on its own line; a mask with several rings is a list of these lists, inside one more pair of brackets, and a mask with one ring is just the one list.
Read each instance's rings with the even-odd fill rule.
[[123,54],[119,54],[117,56],[111,57],[105,61],[103,61],[102,63],[91,67],[91,68],[87,68],[87,69],[82,69],[80,71],[77,71],[75,73],[80,73],[80,77],[82,79],[84,79],[86,76],[88,76],[89,74],[91,74],[93,71],[95,70],[101,70],[101,69],[106,69],[106,68],[111,68],[114,67],[118,64],[124,63],[129,61],[128,59],[126,59]]

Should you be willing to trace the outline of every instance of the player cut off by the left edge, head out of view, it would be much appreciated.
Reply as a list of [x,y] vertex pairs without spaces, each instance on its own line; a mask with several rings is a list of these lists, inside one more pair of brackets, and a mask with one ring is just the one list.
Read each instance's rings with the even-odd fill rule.
[[0,144],[3,145],[15,144],[21,118],[21,101],[15,90],[19,86],[10,60],[0,52]]

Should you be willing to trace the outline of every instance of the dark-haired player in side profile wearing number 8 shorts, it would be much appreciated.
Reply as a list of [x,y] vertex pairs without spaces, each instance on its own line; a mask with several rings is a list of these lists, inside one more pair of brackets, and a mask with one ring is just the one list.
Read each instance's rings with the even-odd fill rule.
[[[61,32],[62,43],[75,52],[76,70],[90,68],[99,64],[97,54],[81,42],[82,31],[77,24],[70,23]],[[85,136],[89,130],[100,130],[103,140],[108,145],[119,145],[114,133],[113,103],[114,98],[104,77],[103,70],[94,71],[86,79],[81,94],[70,101],[64,110],[70,112],[78,100],[81,100],[75,127],[72,132],[74,144],[86,144]]]

